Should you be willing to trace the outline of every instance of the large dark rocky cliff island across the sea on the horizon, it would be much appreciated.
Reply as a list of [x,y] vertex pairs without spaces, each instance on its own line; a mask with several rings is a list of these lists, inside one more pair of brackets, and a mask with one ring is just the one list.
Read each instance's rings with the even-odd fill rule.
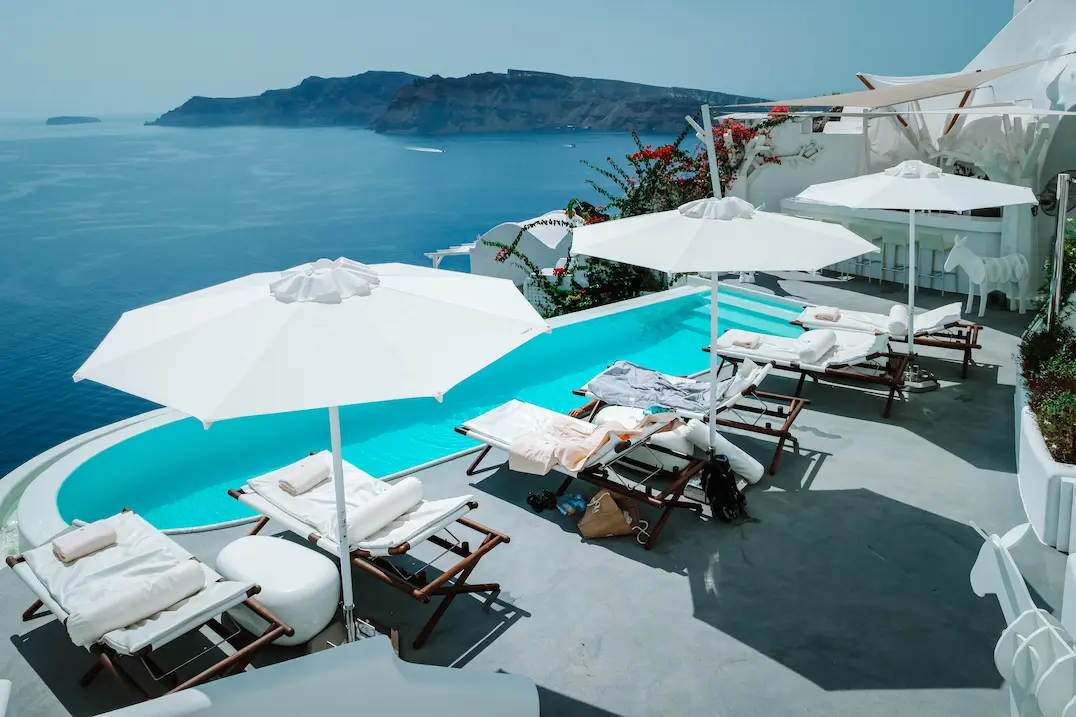
[[758,97],[509,70],[466,78],[370,71],[307,78],[257,97],[193,97],[147,125],[360,127],[393,135],[565,129],[678,131],[699,106]]

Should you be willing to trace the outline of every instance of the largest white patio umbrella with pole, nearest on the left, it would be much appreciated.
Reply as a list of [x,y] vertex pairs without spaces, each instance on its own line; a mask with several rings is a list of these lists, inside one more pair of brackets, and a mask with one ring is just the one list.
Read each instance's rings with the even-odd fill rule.
[[549,327],[512,282],[320,259],[124,313],[75,371],[213,421],[328,408],[354,638],[339,406],[442,395]]

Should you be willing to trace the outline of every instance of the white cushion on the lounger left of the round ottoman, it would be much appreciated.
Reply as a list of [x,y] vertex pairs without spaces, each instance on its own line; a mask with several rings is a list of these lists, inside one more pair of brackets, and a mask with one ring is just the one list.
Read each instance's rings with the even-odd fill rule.
[[[154,575],[190,560],[190,553],[133,512],[105,520],[116,533],[116,544],[70,565],[57,560],[51,543],[23,554],[33,576],[68,614],[107,599],[115,580]],[[201,592],[146,620],[113,630],[101,642],[124,655],[164,644],[242,602],[254,585],[217,582],[221,576],[215,571],[204,563],[199,566],[206,573],[206,588]],[[204,618],[199,619],[200,616]]]

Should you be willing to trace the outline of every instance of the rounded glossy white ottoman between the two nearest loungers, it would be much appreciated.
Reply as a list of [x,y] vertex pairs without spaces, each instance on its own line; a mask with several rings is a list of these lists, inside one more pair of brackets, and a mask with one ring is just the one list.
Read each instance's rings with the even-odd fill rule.
[[[340,598],[336,563],[310,548],[274,537],[249,535],[216,557],[216,572],[229,580],[257,582],[254,600],[289,624],[295,634],[277,645],[301,645],[332,620]],[[236,622],[260,635],[267,622],[243,605],[228,610]]]

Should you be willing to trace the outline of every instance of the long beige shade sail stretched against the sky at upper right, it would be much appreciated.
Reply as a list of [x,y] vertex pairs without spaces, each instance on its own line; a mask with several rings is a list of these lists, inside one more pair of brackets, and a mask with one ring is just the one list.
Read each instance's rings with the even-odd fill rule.
[[1054,57],[1044,57],[1042,59],[1028,62],[1007,65],[991,70],[975,72],[961,72],[942,76],[923,82],[912,82],[904,85],[894,85],[879,89],[864,89],[858,93],[839,93],[837,95],[818,95],[817,97],[797,97],[795,99],[781,99],[768,102],[748,102],[745,104],[733,104],[731,107],[771,107],[775,104],[788,104],[792,107],[865,107],[876,109],[879,107],[891,107],[905,102],[915,102],[931,97],[942,97],[954,93],[964,93],[975,89],[980,85],[996,78],[1022,70],[1034,65],[1039,65]]

